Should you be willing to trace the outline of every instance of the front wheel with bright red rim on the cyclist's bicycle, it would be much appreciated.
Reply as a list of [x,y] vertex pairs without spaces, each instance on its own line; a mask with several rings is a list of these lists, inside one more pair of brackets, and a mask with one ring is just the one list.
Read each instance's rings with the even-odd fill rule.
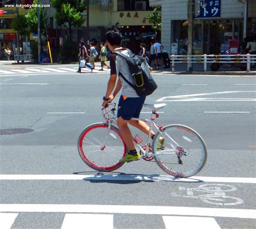
[[78,151],[83,161],[97,171],[113,171],[124,163],[126,145],[118,128],[105,123],[95,123],[86,127],[78,139]]

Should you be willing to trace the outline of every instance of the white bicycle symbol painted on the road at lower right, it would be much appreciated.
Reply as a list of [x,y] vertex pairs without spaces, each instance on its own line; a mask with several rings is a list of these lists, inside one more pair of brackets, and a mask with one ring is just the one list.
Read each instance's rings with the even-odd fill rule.
[[[203,202],[214,205],[238,205],[244,203],[244,200],[238,197],[227,196],[226,192],[236,191],[237,188],[233,185],[227,184],[203,184],[198,188],[184,188],[179,187],[180,191],[186,191],[186,195],[177,195],[172,193],[172,196],[186,197],[186,198],[198,198]],[[197,195],[199,192],[206,194]]]

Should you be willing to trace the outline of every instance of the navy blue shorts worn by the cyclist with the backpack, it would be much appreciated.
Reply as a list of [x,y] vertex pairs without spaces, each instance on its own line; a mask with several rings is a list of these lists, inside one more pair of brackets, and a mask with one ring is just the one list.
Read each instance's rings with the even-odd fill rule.
[[117,110],[117,117],[122,117],[124,120],[131,120],[132,117],[139,118],[143,103],[146,97],[127,98],[120,96]]

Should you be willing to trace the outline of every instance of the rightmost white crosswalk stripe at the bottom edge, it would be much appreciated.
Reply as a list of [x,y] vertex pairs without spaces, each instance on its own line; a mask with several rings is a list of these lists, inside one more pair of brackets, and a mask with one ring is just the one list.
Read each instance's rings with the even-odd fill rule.
[[214,218],[210,217],[184,217],[184,216],[163,216],[166,229],[220,229]]

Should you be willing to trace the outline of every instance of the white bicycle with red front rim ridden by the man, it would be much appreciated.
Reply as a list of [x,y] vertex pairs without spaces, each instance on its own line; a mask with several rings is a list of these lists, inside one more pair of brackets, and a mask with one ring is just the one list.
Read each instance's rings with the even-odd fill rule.
[[[171,124],[165,127],[156,124],[159,117],[157,110],[166,106],[161,104],[144,104],[152,109],[151,119],[136,119],[149,122],[150,131],[146,144],[138,134],[133,137],[145,161],[156,162],[167,174],[174,177],[190,177],[203,169],[207,159],[207,149],[203,138],[190,127]],[[103,109],[105,122],[87,126],[79,136],[78,151],[83,161],[97,171],[113,171],[124,164],[119,159],[125,156],[127,147],[117,127],[116,103],[109,103],[110,110]],[[108,108],[109,109],[109,108]],[[153,128],[157,134],[151,142]],[[164,143],[159,145],[159,137]]]

